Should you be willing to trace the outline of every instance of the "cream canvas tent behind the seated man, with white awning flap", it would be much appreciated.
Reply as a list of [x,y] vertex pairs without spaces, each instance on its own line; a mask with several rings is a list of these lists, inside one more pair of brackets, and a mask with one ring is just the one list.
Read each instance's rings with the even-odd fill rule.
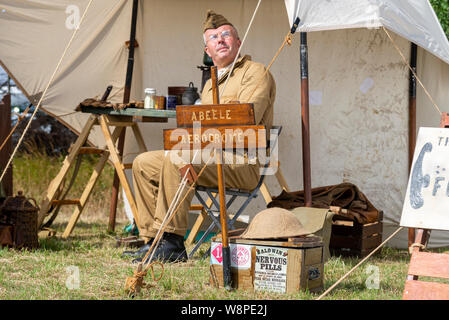
[[[0,63],[34,103],[47,85],[88,0],[0,0]],[[246,31],[257,0],[144,0],[139,3],[131,99],[145,87],[200,85],[202,22],[207,9]],[[121,102],[132,1],[95,0],[43,100],[42,108],[79,131],[86,114],[75,106],[111,84]],[[398,226],[408,179],[409,70],[382,29],[391,31],[406,57],[419,46],[418,75],[445,109],[449,44],[427,0],[263,0],[243,52],[268,64],[298,15],[309,33],[312,187],[356,184],[384,211],[384,236]],[[302,189],[299,37],[271,72],[277,83],[275,123],[283,126],[279,152],[292,190]],[[438,126],[439,114],[418,87],[419,126]],[[142,125],[150,149],[162,147],[162,129]],[[131,140],[131,139],[129,139]],[[90,141],[102,145],[98,132]],[[136,155],[126,141],[125,159]],[[275,179],[268,187],[276,195]],[[254,215],[262,199],[248,208]],[[390,242],[406,247],[406,232]],[[448,245],[449,233],[433,232],[431,245]]]

